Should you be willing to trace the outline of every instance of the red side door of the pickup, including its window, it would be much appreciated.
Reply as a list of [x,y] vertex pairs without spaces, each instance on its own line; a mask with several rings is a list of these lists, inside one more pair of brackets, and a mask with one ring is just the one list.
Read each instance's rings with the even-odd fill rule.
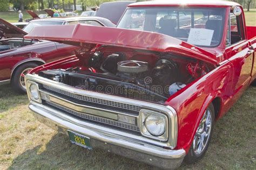
[[242,92],[248,87],[251,79],[253,54],[246,40],[243,15],[234,16],[230,12],[228,36],[226,40],[226,54],[233,65],[232,97],[237,101]]

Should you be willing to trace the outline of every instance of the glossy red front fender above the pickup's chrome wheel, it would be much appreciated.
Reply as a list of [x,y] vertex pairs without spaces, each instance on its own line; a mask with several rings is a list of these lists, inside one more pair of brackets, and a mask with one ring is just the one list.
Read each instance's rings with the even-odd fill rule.
[[[177,112],[178,141],[177,148],[190,149],[194,134],[208,105],[218,97],[218,115],[223,115],[232,96],[233,69],[230,62],[215,68],[200,79],[187,84],[171,96],[165,104]],[[218,118],[218,117],[217,117]]]

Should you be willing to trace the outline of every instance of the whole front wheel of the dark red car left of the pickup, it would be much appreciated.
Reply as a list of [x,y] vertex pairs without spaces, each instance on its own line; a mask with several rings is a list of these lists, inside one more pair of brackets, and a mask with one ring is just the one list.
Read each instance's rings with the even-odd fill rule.
[[12,88],[18,93],[25,94],[26,86],[25,86],[25,75],[33,68],[37,67],[37,63],[28,62],[19,66],[11,79]]

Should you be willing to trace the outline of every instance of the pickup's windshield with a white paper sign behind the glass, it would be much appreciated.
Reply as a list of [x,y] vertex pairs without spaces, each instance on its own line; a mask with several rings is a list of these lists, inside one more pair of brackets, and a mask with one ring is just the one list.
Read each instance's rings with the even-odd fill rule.
[[219,45],[223,35],[224,8],[131,8],[117,27],[158,32],[193,45]]

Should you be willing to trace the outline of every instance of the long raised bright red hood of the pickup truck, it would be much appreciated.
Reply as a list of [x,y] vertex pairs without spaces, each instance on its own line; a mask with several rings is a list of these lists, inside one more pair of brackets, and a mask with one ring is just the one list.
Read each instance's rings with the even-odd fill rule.
[[179,39],[159,33],[119,29],[116,27],[82,24],[40,26],[35,27],[25,38],[45,39],[77,46],[100,44],[174,53],[186,55],[213,65],[218,63],[216,55]]

